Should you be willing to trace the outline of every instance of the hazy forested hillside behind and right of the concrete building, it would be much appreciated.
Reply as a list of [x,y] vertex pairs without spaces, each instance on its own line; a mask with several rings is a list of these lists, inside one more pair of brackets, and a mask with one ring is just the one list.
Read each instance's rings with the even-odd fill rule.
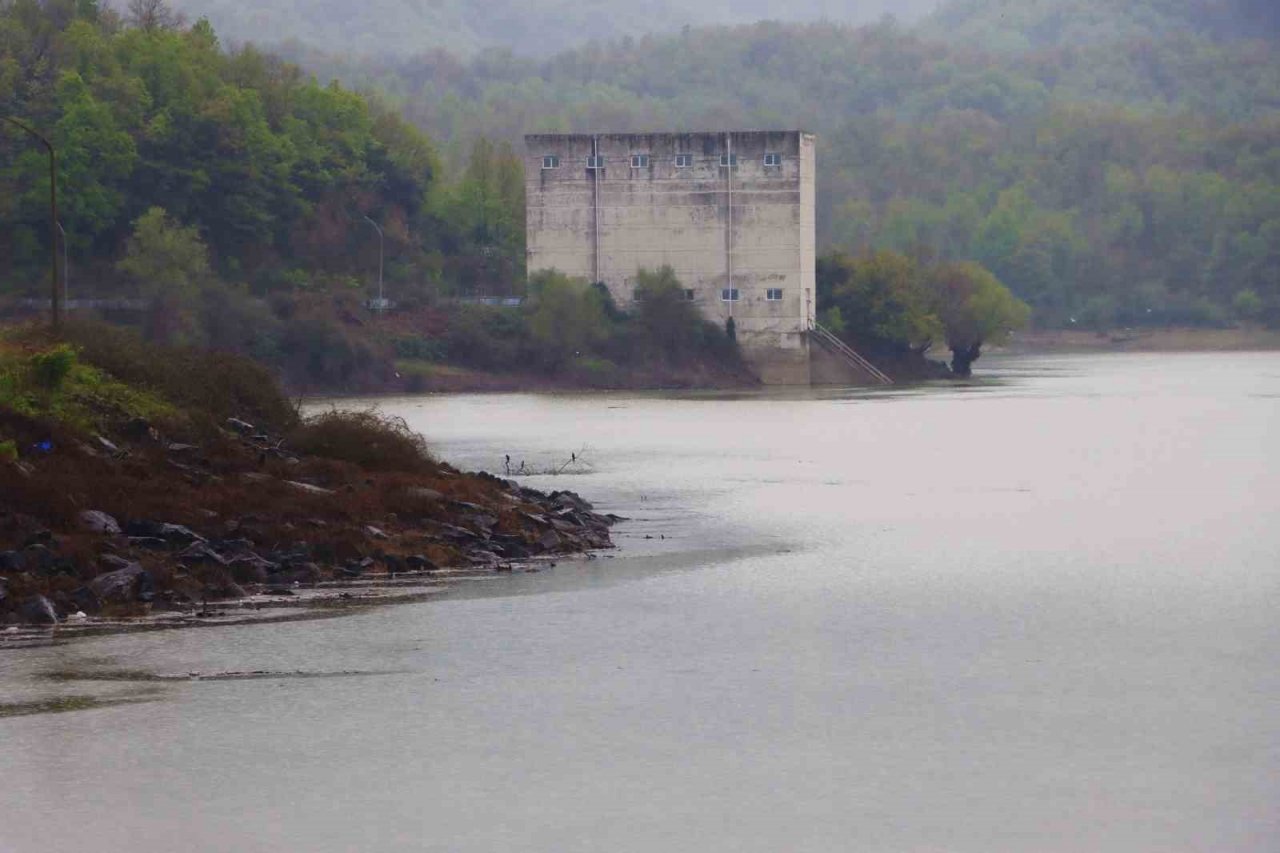
[[813,129],[823,247],[980,261],[1042,324],[1276,318],[1280,49],[1146,5],[1175,35],[1012,56],[893,23],[762,23],[545,60],[305,61],[387,92],[447,161],[477,136]]

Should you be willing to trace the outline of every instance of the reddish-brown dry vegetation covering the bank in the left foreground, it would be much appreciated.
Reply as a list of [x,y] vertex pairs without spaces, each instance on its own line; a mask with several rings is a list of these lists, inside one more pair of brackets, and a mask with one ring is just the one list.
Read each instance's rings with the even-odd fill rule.
[[[60,421],[56,407],[33,416],[0,400],[0,438],[19,451],[0,460],[0,621],[22,621],[40,596],[59,616],[131,616],[257,588],[609,546],[608,520],[576,496],[460,473],[403,420],[376,411],[300,420],[270,377],[236,357],[109,336],[95,343],[79,357],[180,400],[172,410],[180,416],[84,429]],[[29,359],[37,345],[24,346]],[[211,388],[186,387],[184,375],[219,371]],[[247,412],[265,423],[246,423]],[[122,530],[91,529],[86,512]],[[129,566],[141,579],[128,594],[96,594],[95,579]]]

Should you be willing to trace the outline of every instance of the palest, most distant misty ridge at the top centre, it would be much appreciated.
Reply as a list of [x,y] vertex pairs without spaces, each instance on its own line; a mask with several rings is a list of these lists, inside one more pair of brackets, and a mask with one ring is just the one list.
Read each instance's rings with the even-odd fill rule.
[[548,55],[590,40],[677,32],[682,27],[762,19],[863,23],[892,14],[915,20],[938,0],[174,0],[188,18],[207,17],[234,42],[298,42],[362,56],[404,56],[435,47],[470,54],[508,47]]

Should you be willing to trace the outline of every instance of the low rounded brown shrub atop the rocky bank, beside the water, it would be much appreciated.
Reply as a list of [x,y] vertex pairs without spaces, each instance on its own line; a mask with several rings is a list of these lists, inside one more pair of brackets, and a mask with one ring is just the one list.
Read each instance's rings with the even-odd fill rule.
[[378,411],[330,410],[307,418],[288,435],[289,446],[374,471],[422,471],[435,466],[426,442],[402,418]]

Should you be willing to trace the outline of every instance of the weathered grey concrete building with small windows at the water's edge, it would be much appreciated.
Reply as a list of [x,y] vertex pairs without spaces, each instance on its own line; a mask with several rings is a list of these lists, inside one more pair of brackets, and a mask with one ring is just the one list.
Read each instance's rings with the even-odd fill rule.
[[[813,136],[549,134],[527,136],[525,146],[530,270],[604,282],[626,305],[637,270],[669,265],[704,316],[733,318],[764,382],[808,384]],[[731,152],[733,168],[722,160]],[[603,168],[589,168],[593,154]],[[632,167],[634,155],[646,159]],[[543,168],[545,156],[558,165]],[[737,301],[723,298],[731,288]],[[771,289],[777,298],[768,298]]]

